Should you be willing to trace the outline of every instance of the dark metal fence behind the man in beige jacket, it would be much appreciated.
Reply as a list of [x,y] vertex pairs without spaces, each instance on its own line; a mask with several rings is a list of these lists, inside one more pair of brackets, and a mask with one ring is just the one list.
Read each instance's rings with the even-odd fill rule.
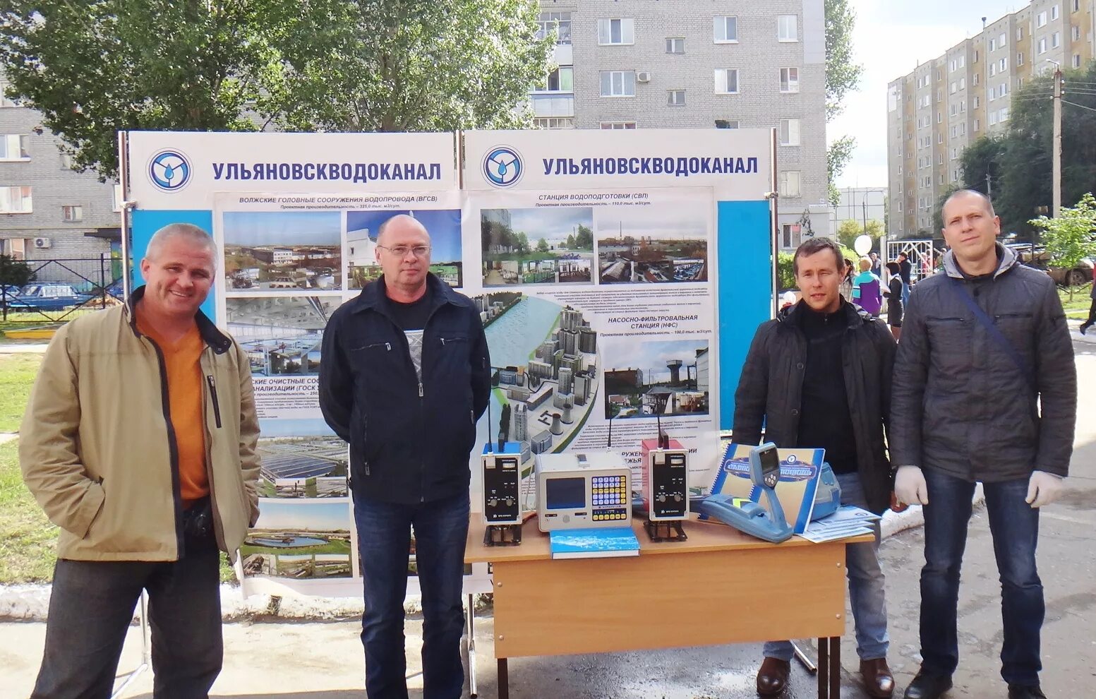
[[[31,281],[22,289],[0,285],[0,313],[4,323],[43,324],[71,320],[75,315],[122,302],[122,258],[98,257],[24,260]],[[23,291],[49,285],[55,295],[33,296]],[[70,288],[70,289],[65,289]],[[71,292],[60,294],[57,292]]]

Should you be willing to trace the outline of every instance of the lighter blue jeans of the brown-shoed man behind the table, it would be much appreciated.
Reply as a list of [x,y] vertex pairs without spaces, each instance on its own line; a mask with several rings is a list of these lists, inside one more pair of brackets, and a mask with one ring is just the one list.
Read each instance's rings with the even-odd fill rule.
[[[837,475],[841,485],[841,504],[868,509],[855,473]],[[879,522],[875,523],[874,542],[853,543],[845,546],[845,570],[848,575],[848,599],[856,627],[856,654],[861,661],[887,657],[890,636],[887,633],[887,598],[884,578],[879,565]],[[765,657],[790,661],[791,643],[768,641],[763,650]]]

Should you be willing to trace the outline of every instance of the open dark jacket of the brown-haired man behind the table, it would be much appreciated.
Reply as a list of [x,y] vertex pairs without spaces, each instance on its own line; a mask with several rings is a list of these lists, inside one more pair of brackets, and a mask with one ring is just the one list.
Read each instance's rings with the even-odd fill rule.
[[[807,337],[799,328],[799,306],[766,320],[754,335],[734,393],[734,441],[756,444],[762,427],[766,441],[777,447],[814,447],[799,443],[799,410]],[[866,311],[842,304],[848,328],[842,342],[841,363],[856,441],[856,466],[869,509],[882,512],[890,505],[891,471],[883,428],[890,421],[891,371],[894,338],[887,326]]]

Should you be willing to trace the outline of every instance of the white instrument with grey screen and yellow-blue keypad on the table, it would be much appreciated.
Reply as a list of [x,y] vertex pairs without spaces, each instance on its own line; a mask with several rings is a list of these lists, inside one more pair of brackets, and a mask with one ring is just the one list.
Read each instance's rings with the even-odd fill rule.
[[631,470],[613,452],[538,454],[540,531],[631,526]]

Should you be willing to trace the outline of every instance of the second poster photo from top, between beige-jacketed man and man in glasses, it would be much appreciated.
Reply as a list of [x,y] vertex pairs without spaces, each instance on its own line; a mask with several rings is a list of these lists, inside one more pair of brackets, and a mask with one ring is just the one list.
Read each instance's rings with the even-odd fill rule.
[[229,296],[229,334],[248,353],[252,376],[302,376],[320,371],[323,328],[341,296]]

